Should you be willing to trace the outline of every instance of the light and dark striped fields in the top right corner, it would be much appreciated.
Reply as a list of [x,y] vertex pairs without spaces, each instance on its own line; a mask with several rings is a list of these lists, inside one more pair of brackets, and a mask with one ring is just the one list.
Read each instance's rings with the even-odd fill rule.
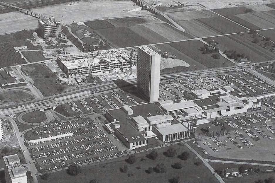
[[265,5],[214,9],[213,11],[253,30],[275,26],[275,9]]

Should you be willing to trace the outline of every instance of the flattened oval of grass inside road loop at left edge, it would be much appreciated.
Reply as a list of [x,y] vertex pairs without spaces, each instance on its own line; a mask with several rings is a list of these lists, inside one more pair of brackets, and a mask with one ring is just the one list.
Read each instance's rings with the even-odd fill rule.
[[0,100],[3,102],[20,102],[33,98],[33,95],[21,90],[6,90],[0,93]]

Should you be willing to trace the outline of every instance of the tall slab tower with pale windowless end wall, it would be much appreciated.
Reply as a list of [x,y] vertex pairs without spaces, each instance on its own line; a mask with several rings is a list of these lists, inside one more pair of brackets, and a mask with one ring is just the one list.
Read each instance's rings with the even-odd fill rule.
[[148,102],[156,102],[159,97],[161,55],[149,47],[138,47],[137,90]]

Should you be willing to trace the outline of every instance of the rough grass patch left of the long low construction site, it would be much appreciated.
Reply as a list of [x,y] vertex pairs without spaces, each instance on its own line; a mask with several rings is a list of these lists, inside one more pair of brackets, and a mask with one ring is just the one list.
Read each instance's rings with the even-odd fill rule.
[[59,84],[56,81],[56,74],[42,64],[22,66],[21,69],[33,79],[35,87],[45,97],[60,93],[67,88],[66,85]]

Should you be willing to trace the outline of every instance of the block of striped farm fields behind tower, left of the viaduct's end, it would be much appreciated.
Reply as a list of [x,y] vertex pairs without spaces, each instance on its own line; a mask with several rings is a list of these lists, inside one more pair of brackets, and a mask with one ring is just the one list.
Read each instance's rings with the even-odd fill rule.
[[157,18],[127,17],[85,22],[114,48],[193,38]]

